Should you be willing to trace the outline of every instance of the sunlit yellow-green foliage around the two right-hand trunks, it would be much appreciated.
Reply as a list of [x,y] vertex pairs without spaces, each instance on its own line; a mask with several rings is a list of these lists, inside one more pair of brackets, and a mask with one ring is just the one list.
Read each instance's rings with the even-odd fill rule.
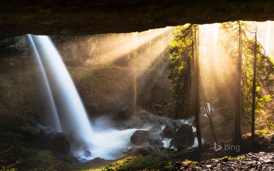
[[[245,124],[250,124],[251,110],[252,110],[252,80],[253,80],[253,65],[254,65],[254,39],[250,39],[247,34],[247,23],[240,22],[241,29],[241,55],[242,55],[242,67],[241,67],[241,118]],[[225,65],[229,68],[224,74],[224,82],[217,86],[219,104],[221,107],[220,113],[226,118],[233,118],[234,114],[234,97],[235,97],[235,84],[237,75],[237,58],[238,58],[238,34],[239,27],[237,22],[226,22],[221,24],[223,29],[222,35],[220,35],[220,42],[222,47],[228,54],[228,62]],[[257,75],[256,75],[256,98],[255,113],[261,115],[264,113],[264,103],[271,100],[270,95],[262,94],[259,89],[265,89],[269,94],[272,91],[269,89],[273,85],[273,79],[271,74],[274,73],[272,58],[267,56],[261,45],[257,47]],[[231,96],[232,95],[232,96]]]

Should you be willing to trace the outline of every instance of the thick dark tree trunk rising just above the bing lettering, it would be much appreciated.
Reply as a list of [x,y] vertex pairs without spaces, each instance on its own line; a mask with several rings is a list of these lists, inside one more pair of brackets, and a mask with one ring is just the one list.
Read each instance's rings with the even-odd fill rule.
[[242,29],[240,21],[239,24],[239,40],[238,40],[238,64],[237,64],[237,77],[236,77],[236,97],[235,97],[235,132],[234,143],[241,144],[243,141],[241,133],[241,70],[242,70]]

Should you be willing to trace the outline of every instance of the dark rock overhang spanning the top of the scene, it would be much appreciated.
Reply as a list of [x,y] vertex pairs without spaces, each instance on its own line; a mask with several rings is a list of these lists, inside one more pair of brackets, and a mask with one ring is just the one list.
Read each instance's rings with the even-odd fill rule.
[[274,1],[43,0],[2,1],[0,37],[24,34],[127,33],[236,20],[274,20]]

